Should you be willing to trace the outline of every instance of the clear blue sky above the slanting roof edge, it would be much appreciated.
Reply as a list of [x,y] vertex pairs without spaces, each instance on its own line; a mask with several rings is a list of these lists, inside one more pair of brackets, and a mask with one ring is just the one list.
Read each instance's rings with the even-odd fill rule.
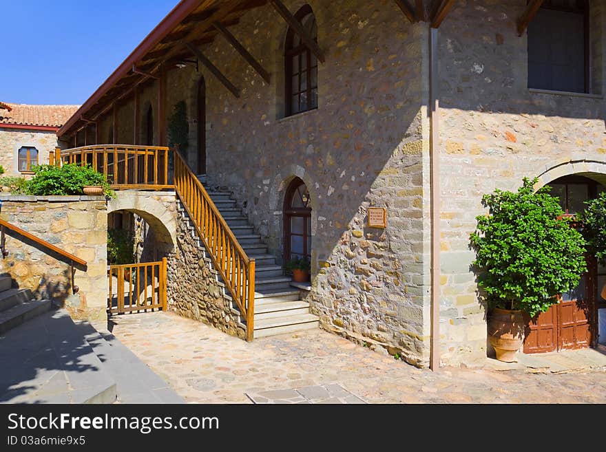
[[178,0],[0,0],[0,100],[81,104]]

